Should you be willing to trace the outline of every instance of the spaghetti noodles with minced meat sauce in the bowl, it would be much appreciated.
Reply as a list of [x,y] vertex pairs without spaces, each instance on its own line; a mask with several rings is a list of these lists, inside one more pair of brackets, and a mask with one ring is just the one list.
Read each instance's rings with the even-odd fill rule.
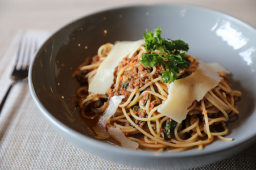
[[[214,139],[232,141],[232,138],[225,137],[229,133],[227,122],[239,113],[237,99],[241,97],[241,92],[230,88],[230,80],[224,71],[220,73],[221,82],[209,90],[202,100],[195,100],[188,107],[187,118],[176,124],[170,139],[166,139],[166,135],[170,134],[165,134],[165,128],[173,120],[158,112],[167,100],[170,83],[161,80],[163,66],[145,67],[139,63],[142,54],[146,53],[144,45],[131,58],[125,57],[119,62],[113,73],[113,85],[106,94],[88,92],[90,82],[112,47],[110,43],[102,45],[98,54],[87,58],[73,74],[83,82],[77,90],[77,103],[82,117],[87,122],[94,121],[92,126],[96,126],[104,114],[110,97],[123,95],[125,98],[110,117],[106,130],[118,127],[127,139],[137,142],[141,149],[177,152],[197,147],[201,150]],[[191,75],[200,64],[192,56],[187,55],[186,58],[190,65],[180,70],[179,78]]]

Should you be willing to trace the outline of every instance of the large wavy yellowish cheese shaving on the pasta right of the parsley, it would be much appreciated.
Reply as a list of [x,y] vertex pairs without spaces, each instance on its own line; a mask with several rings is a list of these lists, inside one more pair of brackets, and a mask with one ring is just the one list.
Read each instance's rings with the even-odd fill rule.
[[194,73],[170,84],[167,100],[159,107],[158,112],[181,123],[187,117],[188,107],[193,101],[203,99],[221,79],[217,71],[201,63]]

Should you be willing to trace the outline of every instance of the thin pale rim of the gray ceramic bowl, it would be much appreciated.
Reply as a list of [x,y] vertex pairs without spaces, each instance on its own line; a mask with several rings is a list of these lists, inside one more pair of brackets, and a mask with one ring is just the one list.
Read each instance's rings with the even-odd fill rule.
[[[158,158],[184,158],[184,157],[191,157],[191,156],[204,156],[204,155],[208,155],[208,154],[212,154],[212,153],[216,153],[216,152],[223,152],[225,150],[230,150],[234,147],[237,147],[238,145],[241,145],[241,143],[246,143],[246,141],[256,141],[256,130],[254,131],[253,135],[250,135],[250,137],[247,138],[243,138],[243,139],[236,139],[234,141],[232,141],[232,143],[230,143],[228,146],[219,146],[217,148],[217,150],[205,150],[205,148],[203,148],[203,150],[200,151],[194,151],[194,152],[190,152],[191,150],[187,151],[182,151],[182,152],[155,152],[155,151],[138,151],[138,150],[129,150],[127,148],[123,148],[123,147],[116,147],[114,145],[110,145],[109,143],[106,143],[104,141],[100,141],[98,139],[94,139],[94,138],[90,138],[84,134],[79,133],[76,130],[73,130],[72,128],[69,128],[68,126],[66,126],[65,124],[63,124],[62,122],[60,122],[59,120],[57,120],[57,118],[55,118],[54,116],[52,116],[51,113],[49,113],[47,111],[47,109],[40,103],[39,97],[36,95],[35,90],[34,90],[34,84],[33,84],[33,80],[32,80],[32,74],[33,74],[33,70],[34,70],[34,62],[35,60],[38,58],[38,54],[39,52],[42,50],[43,46],[46,45],[55,35],[57,35],[57,33],[59,33],[61,30],[69,27],[69,25],[72,25],[76,22],[79,22],[79,20],[81,19],[85,19],[85,18],[89,18],[93,15],[97,15],[100,13],[104,13],[104,12],[108,12],[108,11],[113,11],[113,10],[122,10],[125,8],[134,8],[134,7],[146,7],[146,6],[163,6],[163,5],[168,5],[168,6],[184,6],[184,7],[188,7],[188,8],[193,8],[193,10],[204,10],[204,11],[208,11],[209,13],[213,14],[213,15],[222,15],[222,17],[228,19],[228,20],[232,20],[233,22],[242,25],[243,27],[246,27],[247,29],[250,29],[251,31],[255,32],[256,35],[256,28],[253,27],[251,24],[244,22],[241,19],[237,19],[234,16],[230,15],[230,14],[226,14],[225,12],[222,11],[218,11],[218,10],[214,10],[212,8],[208,8],[208,7],[203,7],[203,6],[199,6],[199,5],[191,5],[191,4],[187,4],[187,3],[141,3],[141,4],[132,4],[132,5],[120,5],[120,6],[114,6],[114,7],[107,7],[107,8],[101,8],[100,10],[96,10],[93,12],[89,12],[88,14],[82,15],[79,18],[73,19],[70,22],[68,22],[67,24],[64,24],[62,27],[60,27],[59,29],[56,29],[55,32],[51,33],[51,35],[48,36],[47,40],[44,40],[44,42],[42,43],[42,45],[36,50],[33,59],[32,59],[32,64],[30,65],[30,69],[28,71],[28,84],[29,84],[29,88],[30,88],[30,93],[32,96],[32,99],[34,100],[35,104],[37,105],[37,107],[39,108],[40,112],[43,114],[43,116],[45,118],[47,118],[48,121],[51,122],[52,125],[55,125],[57,128],[59,128],[61,131],[65,131],[65,133],[68,133],[70,136],[72,136],[73,138],[76,139],[80,139],[80,141],[86,141],[87,143],[89,143],[90,145],[92,145],[93,147],[97,147],[98,149],[101,150],[109,150],[107,148],[110,148],[110,150],[112,152],[116,152],[119,153],[120,151],[125,150],[125,152],[122,152],[122,154],[125,155],[138,155],[138,156],[143,156],[146,158],[152,158],[152,156],[157,156]],[[254,110],[254,114],[255,114],[255,110]],[[250,146],[250,145],[249,145]],[[247,146],[247,147],[249,147]],[[196,148],[192,149],[195,150]],[[146,154],[144,154],[146,153]]]

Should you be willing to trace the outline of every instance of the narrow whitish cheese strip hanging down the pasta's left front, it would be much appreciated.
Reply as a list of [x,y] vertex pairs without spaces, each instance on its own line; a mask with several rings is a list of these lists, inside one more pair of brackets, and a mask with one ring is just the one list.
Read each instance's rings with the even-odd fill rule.
[[94,129],[94,133],[96,133],[97,139],[106,139],[109,138],[108,132],[106,132],[106,124],[108,123],[110,117],[113,116],[115,111],[117,111],[118,105],[121,103],[122,99],[125,98],[125,96],[113,96],[109,99],[109,106],[106,108],[105,113],[100,117],[98,120],[98,123]]

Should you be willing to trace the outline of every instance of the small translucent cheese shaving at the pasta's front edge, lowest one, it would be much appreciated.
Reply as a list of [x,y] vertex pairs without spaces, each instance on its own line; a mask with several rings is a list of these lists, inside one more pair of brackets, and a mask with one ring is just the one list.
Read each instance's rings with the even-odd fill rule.
[[137,142],[131,141],[130,139],[126,138],[125,134],[123,134],[123,131],[118,127],[110,127],[108,132],[115,140],[121,143],[122,147],[130,148],[133,150],[136,150],[139,147],[139,144]]

